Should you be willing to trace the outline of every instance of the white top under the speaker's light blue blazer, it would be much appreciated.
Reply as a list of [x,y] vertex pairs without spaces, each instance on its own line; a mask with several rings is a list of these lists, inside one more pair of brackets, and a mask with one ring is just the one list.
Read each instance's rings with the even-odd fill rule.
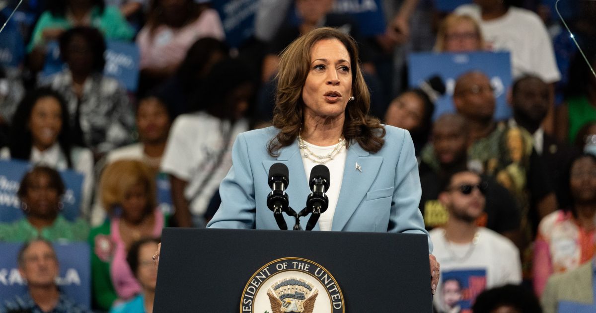
[[[333,149],[336,147],[336,145],[320,147],[318,145],[309,144],[306,141],[304,141],[304,143],[308,146],[312,153],[321,156],[331,153],[331,151],[333,151]],[[306,156],[304,156],[302,151],[303,150],[300,150],[300,153],[302,156],[302,163],[304,164],[304,171],[306,173],[308,184],[308,179],[311,177],[312,168],[314,168],[316,165],[319,165],[319,163],[309,160]],[[346,167],[346,157],[346,147],[343,147],[342,150],[333,157],[333,160],[329,160],[324,164],[329,169],[329,190],[327,190],[325,193],[329,199],[329,206],[327,207],[327,210],[323,212],[321,216],[319,216],[318,224],[323,231],[330,231],[331,225],[333,224],[333,215],[335,214],[337,199],[339,199],[339,192],[342,190],[343,171]]]

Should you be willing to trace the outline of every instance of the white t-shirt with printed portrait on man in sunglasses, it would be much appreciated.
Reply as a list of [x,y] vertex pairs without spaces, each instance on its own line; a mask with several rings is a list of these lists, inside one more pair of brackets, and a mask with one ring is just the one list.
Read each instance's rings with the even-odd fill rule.
[[[441,265],[434,305],[439,312],[459,312],[471,308],[483,290],[522,281],[519,250],[507,238],[488,228],[478,228],[477,243],[457,244],[445,240],[443,228],[430,231],[433,255]],[[448,283],[443,292],[443,284]],[[454,303],[454,295],[460,300]],[[446,302],[451,297],[453,305]],[[456,297],[457,298],[457,297]],[[453,309],[460,307],[460,309]]]

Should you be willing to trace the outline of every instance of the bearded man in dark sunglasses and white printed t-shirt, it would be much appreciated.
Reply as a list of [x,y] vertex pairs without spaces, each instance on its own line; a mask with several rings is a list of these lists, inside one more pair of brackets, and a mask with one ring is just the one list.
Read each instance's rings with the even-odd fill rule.
[[462,311],[471,308],[474,297],[485,289],[519,284],[522,266],[519,250],[507,238],[476,225],[484,212],[486,183],[470,171],[459,171],[443,182],[439,201],[449,218],[442,228],[430,231],[433,253],[441,264],[441,277],[433,301],[439,312],[448,310],[440,295],[442,280],[461,282]]

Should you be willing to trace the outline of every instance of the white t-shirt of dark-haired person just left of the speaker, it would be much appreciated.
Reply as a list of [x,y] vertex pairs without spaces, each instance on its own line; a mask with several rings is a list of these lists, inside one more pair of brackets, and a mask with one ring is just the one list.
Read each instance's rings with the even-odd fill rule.
[[213,193],[232,167],[232,144],[248,129],[246,119],[231,125],[203,112],[182,114],[174,121],[161,170],[188,182],[184,196],[193,215],[205,213]]

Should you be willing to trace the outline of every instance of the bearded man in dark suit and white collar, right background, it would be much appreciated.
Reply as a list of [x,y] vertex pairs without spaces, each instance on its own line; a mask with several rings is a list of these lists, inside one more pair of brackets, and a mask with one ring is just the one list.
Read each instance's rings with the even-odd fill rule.
[[[511,89],[509,103],[513,117],[509,126],[520,126],[532,134],[534,150],[542,160],[548,177],[553,182],[561,181],[561,171],[566,168],[575,154],[569,145],[563,144],[544,132],[542,122],[550,107],[549,86],[538,76],[526,75],[517,79]],[[561,186],[554,185],[557,200],[561,203]]]

